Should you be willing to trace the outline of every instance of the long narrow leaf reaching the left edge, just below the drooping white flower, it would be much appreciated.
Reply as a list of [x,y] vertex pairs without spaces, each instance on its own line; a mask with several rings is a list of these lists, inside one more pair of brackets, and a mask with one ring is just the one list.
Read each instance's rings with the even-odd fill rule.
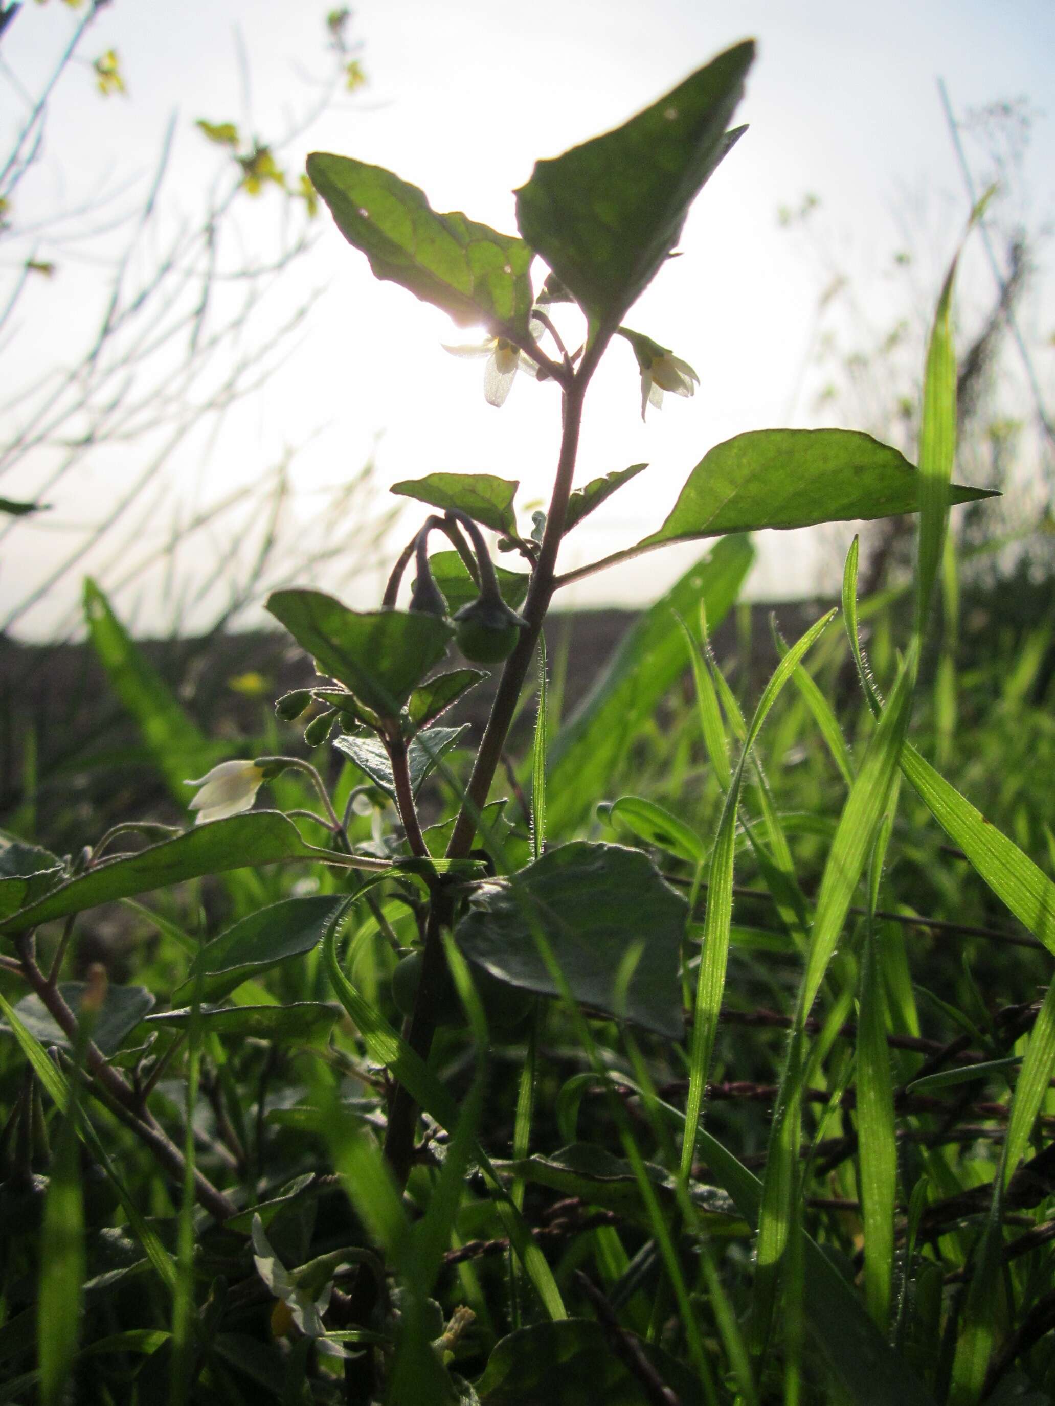
[[53,889],[46,897],[0,924],[0,932],[35,928],[68,912],[82,912],[114,898],[129,898],[184,879],[224,873],[228,869],[255,869],[280,859],[316,859],[318,852],[305,845],[297,827],[276,810],[255,810],[246,815],[214,820],[208,825],[148,845],[136,855],[127,855],[100,865],[77,879]]

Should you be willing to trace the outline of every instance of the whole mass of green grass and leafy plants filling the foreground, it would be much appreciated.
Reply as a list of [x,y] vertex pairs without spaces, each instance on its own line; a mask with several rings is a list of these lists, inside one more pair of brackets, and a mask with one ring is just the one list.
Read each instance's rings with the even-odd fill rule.
[[[326,22],[359,86],[346,18]],[[429,517],[380,610],[274,592],[322,679],[274,713],[252,695],[263,741],[196,723],[86,583],[136,755],[180,806],[158,814],[183,824],[110,824],[63,773],[83,839],[32,801],[0,834],[1,1399],[1051,1398],[1055,613],[961,657],[950,506],[986,495],[951,488],[952,273],[919,471],[854,432],[741,434],[658,533],[558,571],[558,538],[644,468],[573,489],[612,336],[639,363],[629,413],[695,382],[619,322],[738,136],[753,52],[539,163],[523,240],[309,159],[301,194],[378,277],[484,322],[506,388],[525,361],[556,382],[558,467],[526,538],[512,481],[395,485],[473,541],[429,558],[421,609],[387,606]],[[232,124],[198,127],[249,193],[287,184]],[[543,311],[573,301],[574,354]],[[760,669],[769,643],[738,616],[719,659],[744,533],[917,510],[913,581],[861,606],[854,543],[845,636],[816,612],[788,647],[774,621]],[[495,569],[477,524],[522,569]],[[708,536],[561,721],[561,586]],[[454,710],[484,673],[435,672],[456,638],[502,664],[480,734]],[[234,814],[262,785],[279,808]]]

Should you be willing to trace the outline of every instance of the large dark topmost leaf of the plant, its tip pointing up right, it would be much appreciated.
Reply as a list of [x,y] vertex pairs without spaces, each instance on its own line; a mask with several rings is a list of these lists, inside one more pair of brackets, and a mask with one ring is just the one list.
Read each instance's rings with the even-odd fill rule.
[[689,205],[738,132],[726,132],[754,44],[698,69],[644,112],[516,191],[516,222],[581,307],[615,326],[678,242]]

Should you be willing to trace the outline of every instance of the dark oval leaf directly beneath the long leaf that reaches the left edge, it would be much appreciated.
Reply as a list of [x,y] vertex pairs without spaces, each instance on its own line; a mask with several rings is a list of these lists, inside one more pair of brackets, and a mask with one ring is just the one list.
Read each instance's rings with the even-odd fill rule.
[[201,949],[173,1000],[218,1001],[250,976],[311,952],[346,904],[345,894],[312,894],[252,912]]

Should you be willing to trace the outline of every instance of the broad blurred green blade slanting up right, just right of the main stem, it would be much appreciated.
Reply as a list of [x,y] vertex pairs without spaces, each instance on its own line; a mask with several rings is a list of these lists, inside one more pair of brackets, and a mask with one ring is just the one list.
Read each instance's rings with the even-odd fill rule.
[[736,600],[753,561],[754,548],[746,537],[719,543],[622,640],[601,679],[550,747],[551,835],[567,835],[605,792],[610,794],[613,775],[630,742],[685,672],[685,638],[678,616],[698,621],[703,600],[709,626],[715,628]]

